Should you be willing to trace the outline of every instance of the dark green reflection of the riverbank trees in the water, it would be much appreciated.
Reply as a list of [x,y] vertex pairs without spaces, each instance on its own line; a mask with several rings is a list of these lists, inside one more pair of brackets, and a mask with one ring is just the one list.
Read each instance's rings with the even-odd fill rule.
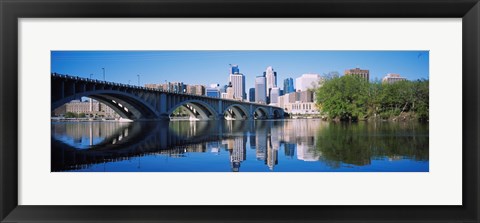
[[317,132],[316,152],[333,167],[371,159],[428,161],[428,126],[419,123],[332,123]]

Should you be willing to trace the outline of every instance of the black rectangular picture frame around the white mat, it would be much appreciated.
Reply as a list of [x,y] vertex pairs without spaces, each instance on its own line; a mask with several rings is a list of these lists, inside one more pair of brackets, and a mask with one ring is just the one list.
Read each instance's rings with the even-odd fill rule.
[[[1,222],[479,222],[478,0],[0,0]],[[18,19],[133,17],[462,18],[461,206],[18,205]],[[446,43],[448,44],[448,43]],[[40,86],[39,86],[40,87]],[[460,148],[450,148],[460,149]]]

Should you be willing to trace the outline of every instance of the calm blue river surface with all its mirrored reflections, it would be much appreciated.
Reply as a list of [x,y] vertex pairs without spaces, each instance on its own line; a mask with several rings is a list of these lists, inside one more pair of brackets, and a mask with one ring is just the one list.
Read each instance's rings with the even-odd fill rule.
[[52,171],[428,172],[428,124],[52,122]]

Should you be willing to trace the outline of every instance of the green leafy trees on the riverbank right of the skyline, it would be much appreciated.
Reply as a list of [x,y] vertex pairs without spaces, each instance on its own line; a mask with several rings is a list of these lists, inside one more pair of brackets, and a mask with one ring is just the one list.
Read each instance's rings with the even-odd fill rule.
[[333,76],[314,90],[316,106],[326,120],[429,120],[429,81],[425,79],[381,83],[356,76]]

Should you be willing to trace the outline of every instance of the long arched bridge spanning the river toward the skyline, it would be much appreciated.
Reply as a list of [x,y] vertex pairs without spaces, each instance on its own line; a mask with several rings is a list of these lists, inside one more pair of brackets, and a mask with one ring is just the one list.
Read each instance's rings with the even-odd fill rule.
[[280,107],[252,102],[169,92],[57,73],[51,74],[51,110],[89,97],[111,107],[122,118],[169,119],[179,107],[200,120],[283,118]]

